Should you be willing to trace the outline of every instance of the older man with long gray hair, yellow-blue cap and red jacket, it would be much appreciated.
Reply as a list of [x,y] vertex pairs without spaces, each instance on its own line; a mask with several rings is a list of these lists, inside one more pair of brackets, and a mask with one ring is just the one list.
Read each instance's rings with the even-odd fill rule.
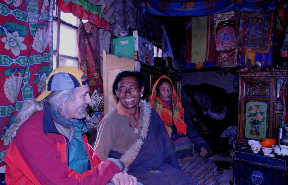
[[81,120],[91,103],[82,71],[61,66],[46,80],[46,90],[28,99],[16,117],[21,125],[4,156],[6,184],[125,184],[135,177],[123,173],[117,159],[101,162],[88,144]]

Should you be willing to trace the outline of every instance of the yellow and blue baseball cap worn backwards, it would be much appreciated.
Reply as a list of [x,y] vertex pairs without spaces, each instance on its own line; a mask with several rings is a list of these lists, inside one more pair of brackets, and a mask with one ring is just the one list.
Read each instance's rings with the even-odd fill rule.
[[46,88],[36,101],[42,101],[52,91],[63,91],[89,84],[88,80],[81,81],[84,73],[72,66],[61,66],[54,69],[46,79]]

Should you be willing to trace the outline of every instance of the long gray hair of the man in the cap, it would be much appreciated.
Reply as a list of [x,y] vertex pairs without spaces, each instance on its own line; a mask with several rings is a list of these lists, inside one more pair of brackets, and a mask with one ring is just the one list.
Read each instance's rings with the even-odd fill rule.
[[[81,80],[85,79],[86,75],[81,77]],[[5,135],[1,138],[1,140],[6,140],[6,143],[3,145],[9,145],[14,137],[16,136],[16,131],[25,122],[28,118],[33,116],[34,114],[41,112],[44,110],[46,104],[50,104],[55,110],[59,113],[63,113],[63,115],[69,115],[70,112],[66,110],[66,105],[68,101],[75,100],[75,93],[79,90],[79,87],[63,90],[63,91],[52,91],[46,98],[42,101],[36,101],[33,98],[28,98],[24,100],[23,107],[20,112],[16,116],[15,123],[9,127],[9,132],[5,132]]]

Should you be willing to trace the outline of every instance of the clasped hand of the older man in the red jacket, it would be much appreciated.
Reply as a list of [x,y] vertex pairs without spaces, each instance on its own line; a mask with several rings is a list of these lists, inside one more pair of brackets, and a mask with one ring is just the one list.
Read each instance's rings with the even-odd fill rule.
[[137,185],[137,178],[128,173],[116,173],[110,180],[114,185]]

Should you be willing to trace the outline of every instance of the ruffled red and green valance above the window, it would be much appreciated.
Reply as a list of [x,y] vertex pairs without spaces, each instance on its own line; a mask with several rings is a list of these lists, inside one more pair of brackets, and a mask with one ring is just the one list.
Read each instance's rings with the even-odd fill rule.
[[103,17],[100,5],[85,0],[58,0],[58,8],[64,13],[73,13],[79,19],[88,19],[91,24],[96,25],[96,28],[113,31],[113,26]]

